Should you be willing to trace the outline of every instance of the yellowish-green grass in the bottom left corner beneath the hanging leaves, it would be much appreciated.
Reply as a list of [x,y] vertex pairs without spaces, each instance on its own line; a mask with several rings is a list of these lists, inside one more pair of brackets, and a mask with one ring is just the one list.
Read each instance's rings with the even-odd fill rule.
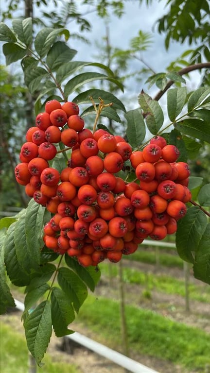
[[[23,335],[1,322],[1,359],[0,372],[26,373],[28,372],[28,349]],[[74,365],[53,361],[51,356],[45,355],[42,368],[36,367],[37,373],[80,373]]]

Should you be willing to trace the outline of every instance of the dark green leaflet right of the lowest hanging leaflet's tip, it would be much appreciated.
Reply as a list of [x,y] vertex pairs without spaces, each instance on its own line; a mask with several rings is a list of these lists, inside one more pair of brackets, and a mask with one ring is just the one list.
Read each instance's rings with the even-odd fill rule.
[[75,314],[70,300],[59,288],[52,288],[51,310],[53,329],[56,337],[63,337],[73,333],[68,325],[75,319]]

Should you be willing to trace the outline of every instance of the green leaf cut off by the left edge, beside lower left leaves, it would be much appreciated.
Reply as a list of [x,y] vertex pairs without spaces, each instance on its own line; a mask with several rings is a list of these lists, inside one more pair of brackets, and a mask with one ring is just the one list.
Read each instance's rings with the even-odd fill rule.
[[0,315],[6,312],[7,307],[15,307],[15,301],[7,284],[4,266],[4,239],[6,233],[1,232],[0,241]]

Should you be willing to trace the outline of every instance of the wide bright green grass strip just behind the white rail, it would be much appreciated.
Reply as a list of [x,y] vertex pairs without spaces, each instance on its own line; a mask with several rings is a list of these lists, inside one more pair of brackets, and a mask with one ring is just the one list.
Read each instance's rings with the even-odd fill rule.
[[[126,305],[129,348],[155,356],[187,369],[204,372],[210,364],[210,335],[182,323],[171,321],[153,311]],[[78,320],[97,333],[102,342],[119,350],[119,304],[103,297],[89,295],[79,312]]]

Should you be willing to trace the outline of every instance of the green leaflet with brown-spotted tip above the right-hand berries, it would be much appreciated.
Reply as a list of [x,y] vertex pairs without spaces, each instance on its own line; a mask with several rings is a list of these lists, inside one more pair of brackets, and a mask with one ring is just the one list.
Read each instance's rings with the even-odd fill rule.
[[139,97],[140,107],[143,110],[147,128],[153,135],[162,127],[164,115],[157,101],[152,100],[146,93],[141,92]]

